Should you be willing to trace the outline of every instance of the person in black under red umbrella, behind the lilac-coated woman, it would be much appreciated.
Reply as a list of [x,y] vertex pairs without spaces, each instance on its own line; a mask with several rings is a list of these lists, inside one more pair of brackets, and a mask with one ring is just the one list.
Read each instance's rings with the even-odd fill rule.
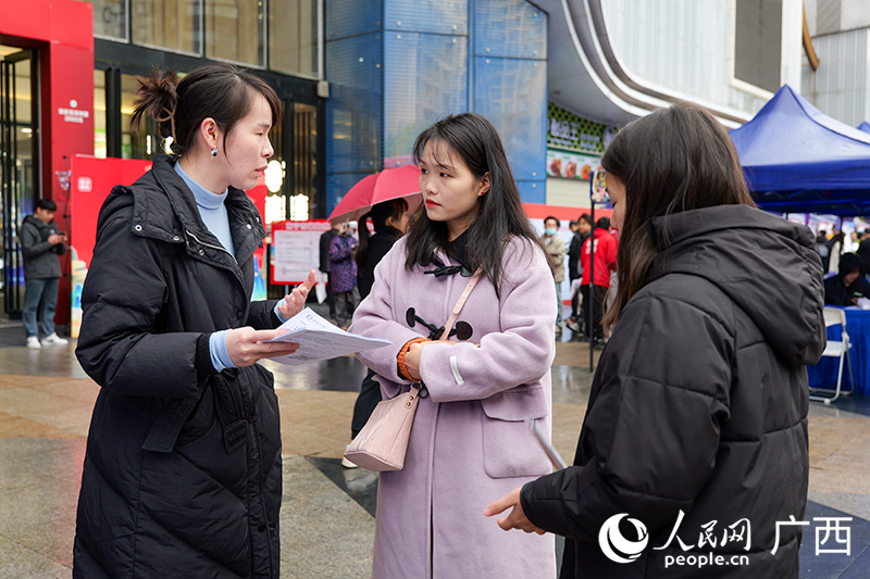
[[[369,236],[369,219],[374,227],[374,235]],[[357,284],[360,288],[360,298],[369,297],[374,285],[374,268],[381,260],[393,249],[393,244],[405,235],[408,227],[408,202],[405,199],[394,199],[376,203],[372,210],[362,216],[359,224],[360,243],[357,249]],[[360,395],[353,404],[353,418],[350,421],[350,438],[357,438],[362,427],[369,420],[374,407],[381,402],[381,385],[374,379],[374,372],[366,368],[365,378],[360,386]],[[341,458],[345,468],[356,468],[357,465]]]

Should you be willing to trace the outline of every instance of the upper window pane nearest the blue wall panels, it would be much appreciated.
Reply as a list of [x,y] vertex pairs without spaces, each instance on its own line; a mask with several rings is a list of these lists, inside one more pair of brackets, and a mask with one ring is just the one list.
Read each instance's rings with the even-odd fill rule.
[[269,67],[318,77],[318,0],[269,3]]

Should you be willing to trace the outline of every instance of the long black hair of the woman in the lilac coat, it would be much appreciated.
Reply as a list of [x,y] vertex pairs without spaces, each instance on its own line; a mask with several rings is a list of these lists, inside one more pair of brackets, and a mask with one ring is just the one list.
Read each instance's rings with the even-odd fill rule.
[[[501,256],[509,237],[521,237],[540,247],[523,212],[501,138],[483,116],[463,113],[443,118],[420,134],[413,148],[418,163],[430,141],[449,147],[476,178],[489,174],[489,190],[477,198],[477,216],[465,231],[467,265],[472,270],[480,267],[498,293]],[[421,205],[411,218],[405,266],[411,269],[417,265],[428,265],[433,251],[436,248],[446,251],[448,242],[447,224],[430,219],[425,206]]]

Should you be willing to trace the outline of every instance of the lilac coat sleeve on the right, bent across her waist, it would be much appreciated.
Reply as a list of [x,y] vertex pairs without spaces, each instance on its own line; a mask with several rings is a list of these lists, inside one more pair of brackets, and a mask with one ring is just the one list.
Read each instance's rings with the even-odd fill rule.
[[514,239],[505,250],[500,287],[501,331],[480,345],[432,343],[420,356],[420,376],[434,402],[481,400],[539,380],[556,355],[556,288],[537,244]]

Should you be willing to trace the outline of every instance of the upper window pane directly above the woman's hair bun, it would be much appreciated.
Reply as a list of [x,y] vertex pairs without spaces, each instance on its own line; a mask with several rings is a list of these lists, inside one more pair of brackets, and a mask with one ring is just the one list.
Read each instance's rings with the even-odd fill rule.
[[202,53],[202,4],[199,0],[129,2],[134,43],[175,52]]

